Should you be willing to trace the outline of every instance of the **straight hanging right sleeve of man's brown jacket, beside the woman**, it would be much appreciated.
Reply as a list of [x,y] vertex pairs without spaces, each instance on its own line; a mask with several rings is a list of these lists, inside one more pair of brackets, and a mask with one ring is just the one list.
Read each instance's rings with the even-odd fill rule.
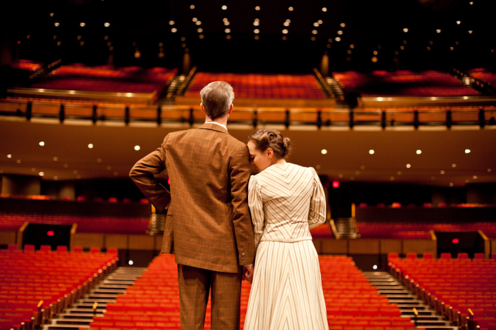
[[238,245],[238,259],[240,265],[254,263],[255,245],[253,229],[248,209],[247,185],[251,174],[249,151],[242,146],[231,166],[231,203],[233,206],[233,223]]

